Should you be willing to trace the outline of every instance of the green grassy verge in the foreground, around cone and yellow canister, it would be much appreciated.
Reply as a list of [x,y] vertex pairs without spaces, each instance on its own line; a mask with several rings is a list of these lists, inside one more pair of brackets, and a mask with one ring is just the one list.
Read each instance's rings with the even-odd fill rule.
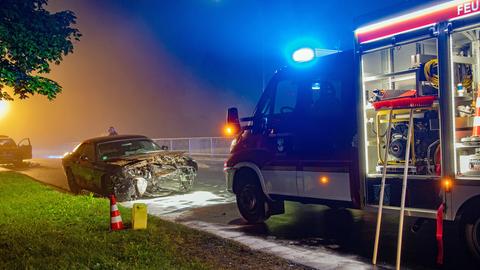
[[[124,223],[130,209],[120,208]],[[149,217],[109,232],[109,202],[0,173],[0,269],[296,269],[286,261]]]

